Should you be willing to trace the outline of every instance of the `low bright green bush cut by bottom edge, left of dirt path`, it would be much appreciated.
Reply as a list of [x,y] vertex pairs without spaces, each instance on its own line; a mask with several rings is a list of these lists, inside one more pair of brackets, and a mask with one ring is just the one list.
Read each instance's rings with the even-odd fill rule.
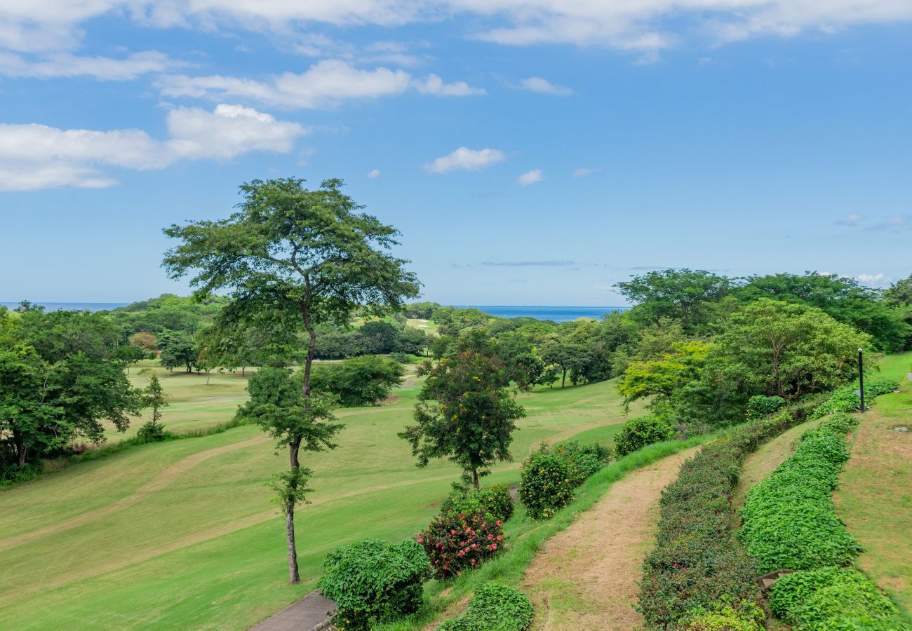
[[532,624],[532,603],[520,591],[489,581],[475,591],[465,613],[438,631],[523,631]]

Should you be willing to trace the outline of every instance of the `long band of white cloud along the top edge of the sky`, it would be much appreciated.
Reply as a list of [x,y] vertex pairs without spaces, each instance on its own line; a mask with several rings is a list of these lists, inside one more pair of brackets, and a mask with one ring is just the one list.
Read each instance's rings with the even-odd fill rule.
[[[98,16],[159,28],[246,29],[285,42],[313,26],[402,26],[467,16],[473,36],[504,45],[574,44],[640,53],[643,61],[687,36],[724,43],[751,36],[830,34],[912,20],[907,0],[4,0],[0,47],[20,52],[78,47]],[[696,34],[696,35],[695,35]],[[319,43],[314,46],[320,48]],[[404,55],[393,52],[392,55]],[[390,61],[389,63],[395,63]]]

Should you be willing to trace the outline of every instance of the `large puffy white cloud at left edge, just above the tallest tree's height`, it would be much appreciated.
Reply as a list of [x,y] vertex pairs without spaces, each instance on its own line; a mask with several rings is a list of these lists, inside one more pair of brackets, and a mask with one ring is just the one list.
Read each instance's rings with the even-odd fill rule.
[[168,140],[140,129],[57,129],[0,123],[0,191],[59,186],[101,188],[117,182],[99,167],[162,169],[175,160],[228,160],[254,150],[287,152],[306,133],[297,123],[255,109],[219,105],[168,113]]

